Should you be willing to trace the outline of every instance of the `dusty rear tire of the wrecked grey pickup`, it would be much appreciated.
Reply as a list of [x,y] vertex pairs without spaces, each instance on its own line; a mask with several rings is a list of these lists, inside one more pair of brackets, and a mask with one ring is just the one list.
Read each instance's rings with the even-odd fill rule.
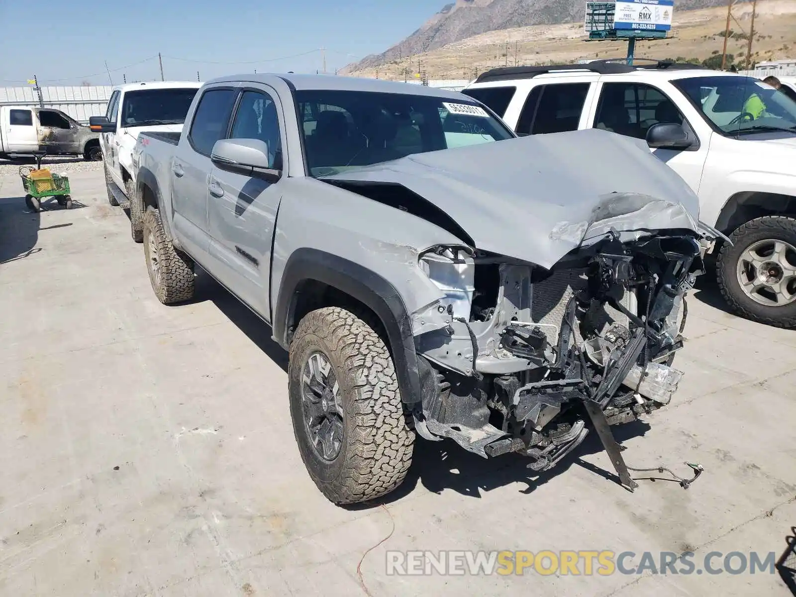
[[[157,250],[159,277],[153,267],[150,239]],[[164,305],[185,302],[193,298],[193,260],[174,248],[166,238],[157,209],[149,208],[143,217],[144,256],[152,290]]]

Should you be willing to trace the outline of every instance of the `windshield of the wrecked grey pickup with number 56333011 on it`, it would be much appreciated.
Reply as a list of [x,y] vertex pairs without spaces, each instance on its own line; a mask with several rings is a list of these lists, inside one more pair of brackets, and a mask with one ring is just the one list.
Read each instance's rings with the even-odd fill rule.
[[474,101],[403,93],[296,92],[312,176],[513,138]]

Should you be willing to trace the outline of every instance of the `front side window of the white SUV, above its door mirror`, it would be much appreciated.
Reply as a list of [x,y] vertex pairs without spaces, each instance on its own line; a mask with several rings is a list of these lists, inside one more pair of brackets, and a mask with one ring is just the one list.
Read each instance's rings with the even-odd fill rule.
[[673,101],[650,85],[605,83],[597,105],[595,128],[646,139],[654,124],[683,124],[683,121]]

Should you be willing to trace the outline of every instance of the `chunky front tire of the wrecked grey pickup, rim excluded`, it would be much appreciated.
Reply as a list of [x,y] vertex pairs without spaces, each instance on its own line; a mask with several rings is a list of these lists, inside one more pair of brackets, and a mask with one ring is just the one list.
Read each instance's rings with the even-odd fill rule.
[[[310,443],[302,409],[302,369],[323,353],[341,392],[343,439],[332,461]],[[290,349],[288,392],[298,451],[310,478],[334,504],[373,500],[404,482],[412,463],[415,433],[407,427],[392,357],[384,341],[361,318],[340,307],[307,314]]]

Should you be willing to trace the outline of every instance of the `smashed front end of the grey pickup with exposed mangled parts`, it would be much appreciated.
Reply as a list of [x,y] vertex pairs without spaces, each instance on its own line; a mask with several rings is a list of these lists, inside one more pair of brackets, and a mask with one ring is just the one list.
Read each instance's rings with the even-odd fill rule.
[[598,433],[634,486],[610,426],[669,404],[682,373],[685,294],[701,272],[691,232],[611,233],[546,270],[464,247],[419,267],[442,298],[414,314],[423,387],[416,428],[544,471]]

